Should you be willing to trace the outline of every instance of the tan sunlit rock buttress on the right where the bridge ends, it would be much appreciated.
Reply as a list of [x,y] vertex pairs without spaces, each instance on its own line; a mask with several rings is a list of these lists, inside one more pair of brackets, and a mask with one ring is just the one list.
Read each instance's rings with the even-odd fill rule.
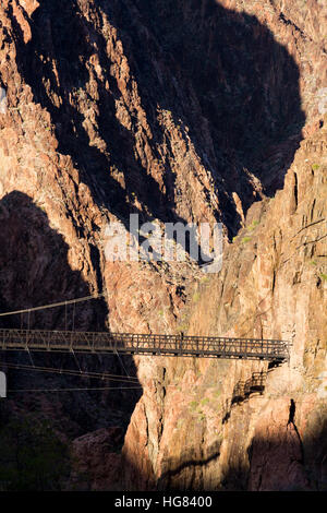
[[[323,128],[302,142],[284,189],[249,211],[220,276],[195,286],[189,311],[190,334],[290,341],[289,365],[165,361],[153,386],[153,361],[140,366],[126,464],[141,460],[162,488],[326,487],[326,140]],[[261,371],[262,394],[237,392]]]

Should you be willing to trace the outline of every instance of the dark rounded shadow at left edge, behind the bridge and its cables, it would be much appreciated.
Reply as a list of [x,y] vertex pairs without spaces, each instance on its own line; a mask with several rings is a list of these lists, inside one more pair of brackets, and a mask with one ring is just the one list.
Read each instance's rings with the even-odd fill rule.
[[[80,272],[69,264],[69,246],[49,226],[47,214],[29,196],[14,191],[0,201],[0,298],[1,311],[16,311],[93,294]],[[96,259],[96,254],[93,254]],[[95,262],[96,263],[96,262]],[[98,284],[99,285],[99,284]],[[102,299],[48,309],[31,314],[0,318],[0,327],[107,331],[108,309]],[[65,373],[17,370],[36,366],[57,370],[105,372],[136,378],[133,359],[112,355],[1,351],[8,373],[8,420],[13,411],[49,417],[55,428],[74,438],[100,428],[118,427],[121,444],[130,416],[141,395],[130,384],[81,378]],[[138,382],[134,379],[133,386]],[[117,387],[116,391],[109,390]],[[60,389],[60,390],[59,390]],[[61,391],[63,389],[63,391]],[[65,389],[82,389],[65,391]],[[90,389],[90,390],[89,390]],[[100,389],[100,390],[95,390]],[[108,390],[102,390],[108,389]],[[23,392],[20,390],[31,390]],[[37,390],[47,390],[41,393]],[[57,390],[58,392],[51,392]],[[34,392],[33,392],[34,391]],[[1,406],[1,405],[0,405]],[[1,406],[2,407],[2,406]],[[4,406],[3,406],[4,407]],[[2,419],[4,421],[4,419]]]

